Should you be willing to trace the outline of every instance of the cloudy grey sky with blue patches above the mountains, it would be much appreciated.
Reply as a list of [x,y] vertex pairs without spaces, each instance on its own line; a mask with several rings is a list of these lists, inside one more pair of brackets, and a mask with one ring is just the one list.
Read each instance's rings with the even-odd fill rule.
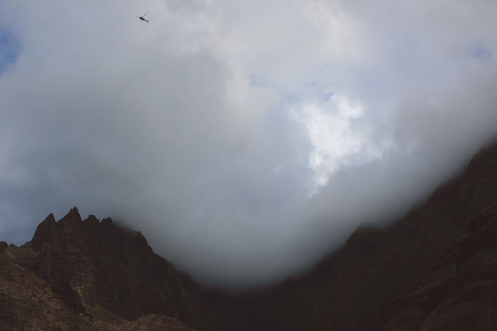
[[8,243],[77,206],[202,284],[267,284],[399,217],[497,133],[495,0],[0,6]]

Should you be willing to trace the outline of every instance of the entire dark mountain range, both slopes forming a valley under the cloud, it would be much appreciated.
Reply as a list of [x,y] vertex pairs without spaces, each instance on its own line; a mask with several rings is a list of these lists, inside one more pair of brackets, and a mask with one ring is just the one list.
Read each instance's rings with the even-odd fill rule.
[[73,208],[0,242],[0,330],[497,330],[496,234],[497,145],[393,224],[245,293],[202,290],[140,232]]

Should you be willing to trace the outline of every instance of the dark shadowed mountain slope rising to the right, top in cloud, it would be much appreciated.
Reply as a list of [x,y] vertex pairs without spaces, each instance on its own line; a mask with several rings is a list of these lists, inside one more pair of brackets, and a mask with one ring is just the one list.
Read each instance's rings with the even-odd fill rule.
[[405,217],[357,229],[306,274],[213,302],[239,330],[497,330],[496,238],[493,145]]

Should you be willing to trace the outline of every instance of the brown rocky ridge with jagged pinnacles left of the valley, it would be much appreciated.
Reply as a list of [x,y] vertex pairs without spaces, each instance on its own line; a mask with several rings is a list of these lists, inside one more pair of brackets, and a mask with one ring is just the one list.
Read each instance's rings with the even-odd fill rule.
[[[90,215],[83,221],[75,207],[58,222],[49,215],[26,245],[2,249],[0,267],[4,272],[17,270],[20,278],[41,286],[40,293],[48,293],[46,301],[57,299],[58,308],[63,307],[83,322],[119,325],[123,330],[127,321],[157,315],[198,330],[223,329],[211,305],[187,275],[156,255],[141,233],[115,226],[110,218],[99,222]],[[18,295],[11,293],[9,297],[10,292],[4,292],[7,287],[5,284],[0,295],[13,300]],[[39,303],[36,297],[32,299],[34,304]],[[3,308],[3,303],[0,305]],[[38,308],[43,311],[46,307]],[[170,321],[163,317],[148,320],[155,324],[158,320]],[[68,323],[75,322],[70,319]],[[82,330],[86,330],[88,326],[83,325]]]

